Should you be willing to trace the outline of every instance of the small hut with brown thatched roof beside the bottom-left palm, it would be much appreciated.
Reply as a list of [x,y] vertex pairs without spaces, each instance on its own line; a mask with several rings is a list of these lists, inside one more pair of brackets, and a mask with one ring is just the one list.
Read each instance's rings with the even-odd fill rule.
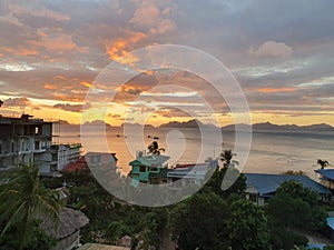
[[80,246],[80,229],[88,224],[89,219],[81,211],[63,208],[59,214],[59,227],[55,230],[50,220],[45,219],[41,228],[57,240],[52,250],[71,250]]

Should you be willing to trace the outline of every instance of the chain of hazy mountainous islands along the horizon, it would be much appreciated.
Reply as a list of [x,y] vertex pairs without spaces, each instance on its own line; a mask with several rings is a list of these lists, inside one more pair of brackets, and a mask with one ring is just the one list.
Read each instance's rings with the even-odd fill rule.
[[[59,121],[60,126],[71,126],[71,127],[78,127],[78,124],[70,124],[66,120]],[[91,122],[86,122],[85,126],[106,126],[106,128],[122,128],[125,126],[127,127],[141,127],[139,123],[122,123],[120,127],[114,127],[109,123],[106,123],[102,120],[96,120]],[[215,124],[212,123],[203,123],[197,119],[191,119],[188,121],[170,121],[168,123],[163,123],[158,127],[154,127],[151,124],[145,124],[145,128],[157,128],[157,129],[164,129],[164,128],[206,128],[206,129],[219,129]],[[243,129],[249,129],[249,124],[228,124],[220,127],[223,131],[234,131],[235,128],[238,128],[240,130]],[[252,126],[252,129],[254,131],[333,131],[334,127],[326,124],[326,123],[318,123],[318,124],[311,124],[311,126],[296,126],[296,124],[274,124],[271,122],[261,122],[261,123],[254,123]]]

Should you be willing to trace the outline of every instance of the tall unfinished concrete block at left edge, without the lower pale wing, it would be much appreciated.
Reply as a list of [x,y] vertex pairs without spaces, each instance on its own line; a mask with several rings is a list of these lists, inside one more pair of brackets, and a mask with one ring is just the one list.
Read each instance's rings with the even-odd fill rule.
[[49,149],[52,146],[52,122],[32,119],[0,117],[0,170],[28,163],[40,166],[41,172],[57,170]]

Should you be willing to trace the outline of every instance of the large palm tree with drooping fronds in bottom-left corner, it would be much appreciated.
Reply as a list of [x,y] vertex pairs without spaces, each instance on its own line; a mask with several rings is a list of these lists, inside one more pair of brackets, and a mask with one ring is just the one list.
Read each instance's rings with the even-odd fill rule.
[[0,239],[17,228],[17,240],[23,249],[38,220],[49,217],[57,228],[62,207],[60,192],[47,189],[40,181],[39,168],[31,162],[20,164],[10,170],[0,184],[0,221],[4,222]]

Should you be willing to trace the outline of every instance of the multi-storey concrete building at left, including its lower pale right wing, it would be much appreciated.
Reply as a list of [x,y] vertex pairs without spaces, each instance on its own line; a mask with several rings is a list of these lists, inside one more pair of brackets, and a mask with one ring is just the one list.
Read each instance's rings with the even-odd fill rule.
[[29,161],[42,176],[53,176],[80,157],[81,144],[53,144],[52,122],[0,116],[0,171]]

